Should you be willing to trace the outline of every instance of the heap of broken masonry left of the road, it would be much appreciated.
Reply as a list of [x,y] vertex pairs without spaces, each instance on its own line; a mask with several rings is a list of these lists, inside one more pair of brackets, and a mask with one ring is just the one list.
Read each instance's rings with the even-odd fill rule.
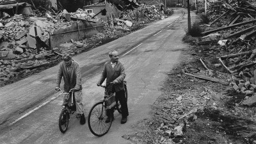
[[[77,10],[73,15],[81,19],[92,17],[81,10]],[[76,54],[81,51],[76,47],[84,47],[86,42],[72,42],[72,47],[68,47],[65,51],[60,49],[48,51],[49,36],[58,29],[70,27],[74,22],[76,21],[64,19],[62,13],[55,18],[54,15],[47,14],[46,17],[24,17],[23,15],[10,17],[8,15],[1,19],[0,83],[29,72],[30,68],[48,64],[49,61],[60,58],[61,53],[68,51]]]

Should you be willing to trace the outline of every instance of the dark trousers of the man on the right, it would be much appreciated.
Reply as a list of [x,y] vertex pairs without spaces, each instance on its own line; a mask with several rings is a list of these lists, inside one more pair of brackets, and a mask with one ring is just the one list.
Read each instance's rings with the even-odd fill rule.
[[[123,118],[127,117],[129,115],[129,112],[128,112],[127,101],[125,99],[124,90],[121,90],[119,92],[115,92],[115,97],[116,97],[116,100],[120,101],[122,117]],[[114,113],[114,108],[107,109],[107,111],[106,111],[107,116],[113,116],[113,113]]]

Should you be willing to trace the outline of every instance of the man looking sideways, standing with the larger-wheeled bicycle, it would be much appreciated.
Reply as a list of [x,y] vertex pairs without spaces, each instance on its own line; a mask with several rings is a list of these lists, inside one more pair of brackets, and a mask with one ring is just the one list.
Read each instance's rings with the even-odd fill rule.
[[[129,115],[129,113],[124,91],[124,65],[120,63],[120,61],[118,61],[118,52],[115,50],[109,52],[109,58],[110,60],[104,64],[102,75],[99,82],[97,83],[97,86],[102,84],[105,79],[107,86],[109,84],[113,84],[108,86],[108,91],[112,93],[115,92],[116,99],[120,101],[122,111],[121,124],[125,124],[125,122],[127,122],[127,116]],[[106,119],[106,123],[114,119],[113,108],[107,110],[107,116],[108,118]]]

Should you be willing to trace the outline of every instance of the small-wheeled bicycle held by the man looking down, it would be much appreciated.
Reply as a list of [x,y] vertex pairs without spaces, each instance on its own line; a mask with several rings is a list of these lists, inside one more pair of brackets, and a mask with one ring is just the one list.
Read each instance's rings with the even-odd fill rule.
[[[62,110],[59,116],[59,128],[62,133],[65,133],[68,129],[68,121],[70,119],[70,114],[73,114],[76,111],[76,100],[74,97],[74,92],[76,88],[72,88],[69,92],[64,92],[61,88],[57,91],[61,91],[64,97],[66,98],[62,104]],[[71,98],[70,98],[71,95]],[[68,104],[68,100],[71,99],[71,104]],[[81,115],[81,118],[84,118],[84,115]],[[85,118],[84,118],[85,120]]]

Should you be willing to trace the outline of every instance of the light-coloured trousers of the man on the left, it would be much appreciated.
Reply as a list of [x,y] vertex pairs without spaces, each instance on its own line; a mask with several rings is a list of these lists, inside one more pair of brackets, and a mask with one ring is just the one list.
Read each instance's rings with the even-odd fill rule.
[[[83,94],[82,94],[82,91],[79,90],[79,91],[76,91],[74,92],[74,95],[75,95],[75,101],[76,101],[76,113],[77,114],[83,114],[83,109],[84,109],[84,106],[83,106]],[[70,97],[68,97],[67,99],[67,96],[64,97],[63,99],[63,102],[68,102],[68,105],[70,106],[71,104],[71,95]]]

